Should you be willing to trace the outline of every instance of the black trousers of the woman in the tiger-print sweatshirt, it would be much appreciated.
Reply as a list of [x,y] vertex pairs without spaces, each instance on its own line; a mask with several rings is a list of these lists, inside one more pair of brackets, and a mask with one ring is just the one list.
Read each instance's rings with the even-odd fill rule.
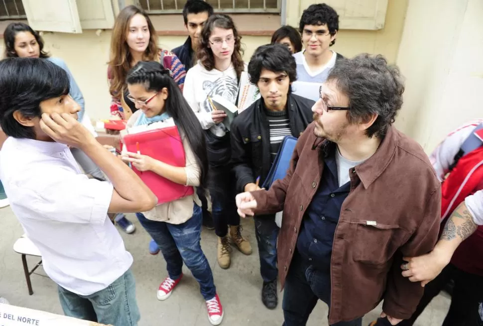
[[240,225],[235,202],[235,177],[229,164],[212,167],[209,171],[211,197],[211,215],[215,224],[215,233],[224,237],[228,233],[228,225]]

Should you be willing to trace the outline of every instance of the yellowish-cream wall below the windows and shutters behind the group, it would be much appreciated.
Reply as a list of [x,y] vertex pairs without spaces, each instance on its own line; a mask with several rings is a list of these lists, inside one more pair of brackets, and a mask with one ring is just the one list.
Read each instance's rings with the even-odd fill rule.
[[[394,61],[402,33],[407,1],[389,0],[385,26],[381,30],[341,30],[334,50],[349,57],[361,52],[382,53],[389,61]],[[289,18],[290,12],[293,12],[292,6],[299,3],[297,0],[288,0]],[[181,15],[179,19],[182,19]],[[288,21],[298,23],[298,19],[298,17],[291,17]],[[292,24],[296,25],[296,23]],[[111,31],[103,31],[100,36],[97,36],[94,30],[84,30],[82,34],[47,32],[43,37],[46,49],[53,56],[63,58],[72,71],[84,94],[86,110],[91,119],[108,118],[110,96],[106,62],[109,58]],[[169,49],[184,41],[185,36],[161,36],[159,38],[160,45]],[[244,60],[249,60],[257,46],[269,41],[270,38],[267,36],[243,36]],[[1,51],[3,51],[2,46]]]

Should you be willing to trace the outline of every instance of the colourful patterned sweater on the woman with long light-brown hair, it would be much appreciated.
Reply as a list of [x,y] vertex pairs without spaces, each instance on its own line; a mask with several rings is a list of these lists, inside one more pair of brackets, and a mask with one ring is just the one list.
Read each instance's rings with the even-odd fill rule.
[[[186,70],[181,61],[179,61],[178,57],[174,53],[163,49],[159,50],[159,58],[162,58],[163,67],[169,69],[171,77],[174,79],[176,84],[178,84],[181,92],[183,92]],[[111,66],[108,67],[108,81],[109,85],[111,85],[113,81]],[[112,96],[111,114],[124,119],[124,109],[122,109],[121,96],[119,93],[121,92],[118,92],[115,94],[115,96]]]

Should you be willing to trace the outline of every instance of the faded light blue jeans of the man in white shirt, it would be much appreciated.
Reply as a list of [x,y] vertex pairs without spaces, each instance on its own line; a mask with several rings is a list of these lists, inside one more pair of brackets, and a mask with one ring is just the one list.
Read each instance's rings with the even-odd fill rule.
[[116,326],[135,326],[139,322],[136,286],[130,269],[106,289],[88,296],[58,288],[66,316]]

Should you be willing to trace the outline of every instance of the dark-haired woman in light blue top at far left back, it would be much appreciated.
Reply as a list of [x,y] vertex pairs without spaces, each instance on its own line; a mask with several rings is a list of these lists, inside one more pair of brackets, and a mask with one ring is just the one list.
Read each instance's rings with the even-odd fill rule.
[[[51,57],[44,51],[44,42],[40,35],[25,23],[13,22],[5,28],[5,31],[3,32],[3,41],[5,42],[5,57],[43,58],[51,61],[66,71],[70,82],[69,95],[81,107],[81,110],[78,113],[78,120],[84,124],[95,137],[97,137],[98,135],[86,113],[84,97],[82,96],[82,92],[77,85],[74,76],[72,76],[72,73],[64,60]],[[101,169],[99,169],[99,167],[82,150],[71,148],[71,152],[86,174],[100,180],[106,180],[106,176]],[[120,213],[116,214],[116,216],[110,217],[111,219],[114,218],[124,232],[134,232],[134,225],[124,216],[124,214]]]

